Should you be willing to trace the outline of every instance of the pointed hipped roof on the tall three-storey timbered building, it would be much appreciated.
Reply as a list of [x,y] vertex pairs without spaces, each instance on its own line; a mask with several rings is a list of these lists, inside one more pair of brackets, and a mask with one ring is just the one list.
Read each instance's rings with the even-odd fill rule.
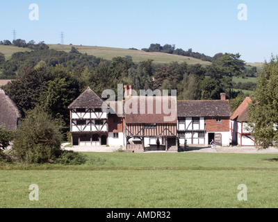
[[101,108],[104,101],[90,87],[86,89],[76,100],[70,105],[69,109],[78,108]]

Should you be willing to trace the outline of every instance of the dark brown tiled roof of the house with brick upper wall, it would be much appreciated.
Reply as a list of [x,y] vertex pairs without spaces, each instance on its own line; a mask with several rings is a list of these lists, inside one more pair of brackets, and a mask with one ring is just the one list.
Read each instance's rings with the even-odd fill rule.
[[177,101],[178,117],[230,117],[227,100]]

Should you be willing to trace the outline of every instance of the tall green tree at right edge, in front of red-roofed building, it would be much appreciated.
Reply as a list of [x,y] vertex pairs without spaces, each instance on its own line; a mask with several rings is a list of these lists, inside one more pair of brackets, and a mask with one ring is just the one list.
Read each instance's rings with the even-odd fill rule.
[[262,148],[278,146],[278,57],[263,65],[249,106],[250,129]]

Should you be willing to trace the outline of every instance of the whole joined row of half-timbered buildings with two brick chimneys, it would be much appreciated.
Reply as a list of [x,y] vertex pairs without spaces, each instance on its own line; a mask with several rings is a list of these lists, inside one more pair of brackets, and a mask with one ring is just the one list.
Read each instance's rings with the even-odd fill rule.
[[[177,101],[176,96],[133,96],[103,101],[88,88],[70,104],[73,146],[115,145],[131,151],[177,151],[179,144],[229,145],[231,112],[225,94],[215,101]],[[111,112],[113,111],[113,112]]]

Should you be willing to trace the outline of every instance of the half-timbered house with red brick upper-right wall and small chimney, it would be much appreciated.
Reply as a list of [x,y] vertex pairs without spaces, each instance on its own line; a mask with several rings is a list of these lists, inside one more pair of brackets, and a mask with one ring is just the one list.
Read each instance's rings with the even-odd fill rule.
[[229,101],[177,101],[179,143],[208,146],[214,139],[218,146],[229,146]]

